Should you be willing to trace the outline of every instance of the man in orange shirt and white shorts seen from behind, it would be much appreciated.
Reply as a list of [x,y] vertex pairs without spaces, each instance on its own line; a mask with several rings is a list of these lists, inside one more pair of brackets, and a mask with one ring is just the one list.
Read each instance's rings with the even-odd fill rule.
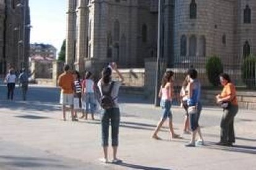
[[74,116],[74,77],[69,65],[64,65],[64,73],[59,76],[59,87],[61,87],[61,99],[63,120],[66,121],[66,105],[70,106],[72,121],[77,121]]

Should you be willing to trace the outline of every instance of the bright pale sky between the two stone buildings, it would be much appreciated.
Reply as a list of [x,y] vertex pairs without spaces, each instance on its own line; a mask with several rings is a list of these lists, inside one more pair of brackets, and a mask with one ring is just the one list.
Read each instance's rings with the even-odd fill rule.
[[66,38],[66,4],[66,0],[29,1],[30,43],[51,44],[59,53]]

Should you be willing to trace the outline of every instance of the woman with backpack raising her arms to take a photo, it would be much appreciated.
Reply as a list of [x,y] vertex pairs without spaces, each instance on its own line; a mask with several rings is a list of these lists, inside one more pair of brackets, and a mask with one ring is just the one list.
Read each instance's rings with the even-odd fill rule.
[[[120,81],[113,81],[111,78],[112,70],[116,71]],[[101,79],[98,81],[98,88],[101,94],[101,107],[103,107],[103,115],[101,116],[101,133],[102,133],[102,146],[104,158],[100,161],[108,163],[108,133],[109,133],[109,121],[111,124],[111,141],[113,147],[113,160],[112,163],[121,163],[122,161],[117,159],[117,147],[118,147],[118,133],[120,122],[120,111],[117,103],[118,91],[122,82],[123,76],[117,70],[116,63],[111,63],[109,67],[103,68],[101,72]],[[108,101],[108,102],[107,102]]]

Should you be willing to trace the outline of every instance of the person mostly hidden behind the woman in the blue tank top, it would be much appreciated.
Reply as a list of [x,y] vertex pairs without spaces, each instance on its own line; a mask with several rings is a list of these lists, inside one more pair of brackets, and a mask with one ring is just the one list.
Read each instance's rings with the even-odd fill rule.
[[187,98],[188,98],[188,91],[187,91],[187,84],[189,84],[189,78],[186,76],[184,79],[182,86],[181,86],[181,107],[185,110],[185,117],[184,117],[184,126],[183,126],[183,133],[184,134],[190,134],[189,130],[189,113],[187,112]]

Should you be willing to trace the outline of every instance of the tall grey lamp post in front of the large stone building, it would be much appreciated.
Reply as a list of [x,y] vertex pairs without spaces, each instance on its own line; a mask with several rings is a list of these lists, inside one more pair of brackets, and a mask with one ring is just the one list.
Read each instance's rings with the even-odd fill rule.
[[158,1],[158,43],[156,58],[156,83],[155,83],[155,106],[160,105],[158,92],[160,90],[160,58],[163,58],[163,1]]

